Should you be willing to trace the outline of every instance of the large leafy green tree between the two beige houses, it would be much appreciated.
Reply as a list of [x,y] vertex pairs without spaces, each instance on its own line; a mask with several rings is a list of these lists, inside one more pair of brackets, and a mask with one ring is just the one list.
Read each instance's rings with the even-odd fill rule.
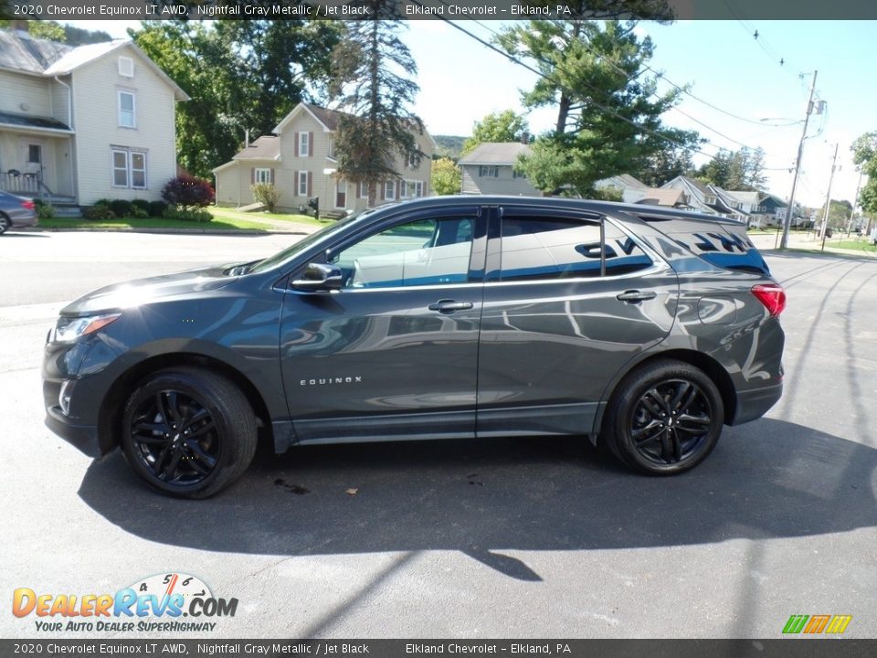
[[149,21],[132,32],[191,97],[176,111],[180,165],[209,176],[238,152],[247,131],[270,133],[319,93],[340,29],[329,21]]

